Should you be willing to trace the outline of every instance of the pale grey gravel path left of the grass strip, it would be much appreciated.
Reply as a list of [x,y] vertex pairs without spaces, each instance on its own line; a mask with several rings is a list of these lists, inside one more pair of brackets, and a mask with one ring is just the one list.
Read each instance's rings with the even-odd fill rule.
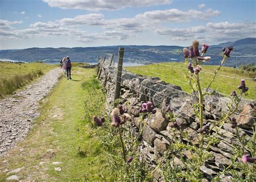
[[39,116],[39,101],[56,85],[62,71],[52,69],[24,90],[0,100],[0,155],[23,141]]

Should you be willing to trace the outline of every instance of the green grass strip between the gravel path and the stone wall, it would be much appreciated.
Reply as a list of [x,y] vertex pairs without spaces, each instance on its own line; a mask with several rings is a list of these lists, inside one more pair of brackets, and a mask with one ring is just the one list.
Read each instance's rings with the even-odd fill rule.
[[[18,176],[24,181],[110,179],[107,157],[96,130],[84,120],[83,104],[89,91],[83,89],[82,83],[93,82],[95,69],[73,67],[71,73],[72,80],[60,80],[42,101],[41,116],[25,140],[11,149],[8,156],[0,157],[0,181],[8,177],[4,169],[22,166],[24,169]],[[55,152],[53,158],[49,157],[51,149]],[[62,164],[53,165],[52,162]],[[61,167],[62,171],[55,171],[55,167]]]

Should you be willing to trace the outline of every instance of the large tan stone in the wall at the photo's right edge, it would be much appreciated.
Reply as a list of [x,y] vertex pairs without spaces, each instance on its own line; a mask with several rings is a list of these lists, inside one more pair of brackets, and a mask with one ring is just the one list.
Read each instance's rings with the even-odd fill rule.
[[246,103],[242,112],[238,116],[237,125],[240,128],[252,129],[253,124],[256,122],[256,119],[253,117],[255,114],[256,111],[253,104]]

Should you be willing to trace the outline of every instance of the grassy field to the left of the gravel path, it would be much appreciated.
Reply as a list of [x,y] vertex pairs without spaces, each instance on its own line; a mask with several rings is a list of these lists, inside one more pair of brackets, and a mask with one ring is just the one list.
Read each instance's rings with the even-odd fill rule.
[[14,93],[26,83],[45,74],[56,65],[41,63],[15,64],[12,62],[0,61],[0,98]]

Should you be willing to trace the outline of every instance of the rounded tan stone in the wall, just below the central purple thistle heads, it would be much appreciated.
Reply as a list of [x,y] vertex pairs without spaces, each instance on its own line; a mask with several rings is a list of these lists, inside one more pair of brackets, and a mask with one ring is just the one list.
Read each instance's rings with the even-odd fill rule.
[[169,122],[165,120],[165,118],[161,114],[161,111],[158,108],[156,108],[156,110],[156,114],[152,114],[149,118],[149,126],[154,131],[160,132],[166,130]]

